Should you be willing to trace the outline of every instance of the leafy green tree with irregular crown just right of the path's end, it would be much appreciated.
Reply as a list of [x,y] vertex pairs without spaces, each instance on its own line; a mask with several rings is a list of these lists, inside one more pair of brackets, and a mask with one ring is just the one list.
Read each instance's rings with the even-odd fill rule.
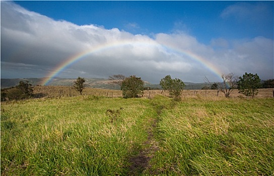
[[163,90],[168,91],[170,96],[174,96],[178,98],[185,87],[184,82],[181,79],[175,78],[172,79],[170,75],[162,78],[160,81],[160,85]]

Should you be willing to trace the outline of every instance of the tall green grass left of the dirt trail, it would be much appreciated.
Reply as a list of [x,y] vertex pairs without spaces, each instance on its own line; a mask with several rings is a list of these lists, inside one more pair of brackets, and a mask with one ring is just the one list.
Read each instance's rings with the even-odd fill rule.
[[[2,175],[126,175],[152,112],[141,99],[93,98],[2,105]],[[106,110],[121,107],[111,123]]]

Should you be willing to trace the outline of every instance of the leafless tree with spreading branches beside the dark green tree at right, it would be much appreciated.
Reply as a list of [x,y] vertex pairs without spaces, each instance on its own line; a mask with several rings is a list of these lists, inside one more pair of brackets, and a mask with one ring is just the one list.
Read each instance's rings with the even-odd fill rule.
[[[228,74],[222,74],[221,75],[223,81],[222,82],[214,82],[214,88],[220,90],[226,98],[230,97],[231,92],[236,89],[238,76],[235,76],[234,73],[228,73]],[[205,81],[209,82],[209,79],[207,77],[204,78]]]

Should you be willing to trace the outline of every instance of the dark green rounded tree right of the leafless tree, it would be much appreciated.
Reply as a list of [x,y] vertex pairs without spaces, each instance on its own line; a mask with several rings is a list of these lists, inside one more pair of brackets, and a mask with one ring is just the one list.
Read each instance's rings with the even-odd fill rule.
[[238,81],[238,90],[239,93],[245,96],[252,96],[254,98],[255,95],[258,95],[258,89],[261,87],[261,79],[256,74],[247,73],[243,75],[243,77],[239,77]]

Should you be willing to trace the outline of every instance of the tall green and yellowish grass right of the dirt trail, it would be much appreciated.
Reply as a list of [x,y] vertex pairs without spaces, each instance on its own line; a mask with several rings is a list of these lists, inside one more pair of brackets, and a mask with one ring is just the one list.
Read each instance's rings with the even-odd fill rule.
[[185,99],[160,118],[158,174],[274,174],[273,99]]

